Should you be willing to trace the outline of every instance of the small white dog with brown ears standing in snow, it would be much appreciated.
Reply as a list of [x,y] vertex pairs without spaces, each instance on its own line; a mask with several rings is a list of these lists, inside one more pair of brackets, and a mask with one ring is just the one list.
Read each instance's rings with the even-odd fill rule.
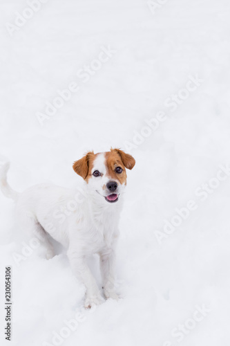
[[1,190],[16,201],[21,227],[44,243],[47,259],[55,255],[49,235],[67,248],[73,273],[86,286],[86,308],[104,301],[86,263],[93,253],[99,254],[105,298],[119,298],[115,292],[115,247],[126,168],[132,170],[134,165],[133,156],[121,149],[97,154],[88,152],[73,163],[73,170],[84,179],[82,190],[40,184],[22,193],[8,185],[9,163],[1,167]]

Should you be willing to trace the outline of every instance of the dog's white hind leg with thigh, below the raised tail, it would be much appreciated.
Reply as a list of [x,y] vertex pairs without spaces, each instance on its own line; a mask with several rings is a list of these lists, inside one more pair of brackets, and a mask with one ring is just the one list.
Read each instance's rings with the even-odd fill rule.
[[21,212],[20,210],[19,222],[21,224],[21,228],[26,230],[28,234],[32,233],[33,235],[35,235],[35,237],[39,239],[39,242],[41,242],[41,244],[45,246],[47,260],[50,260],[50,258],[54,257],[55,251],[52,244],[50,244],[48,234],[46,233],[46,230],[44,230],[44,228],[41,226],[41,224],[39,224],[39,221],[37,221],[35,215],[32,215],[32,212],[30,211]]

